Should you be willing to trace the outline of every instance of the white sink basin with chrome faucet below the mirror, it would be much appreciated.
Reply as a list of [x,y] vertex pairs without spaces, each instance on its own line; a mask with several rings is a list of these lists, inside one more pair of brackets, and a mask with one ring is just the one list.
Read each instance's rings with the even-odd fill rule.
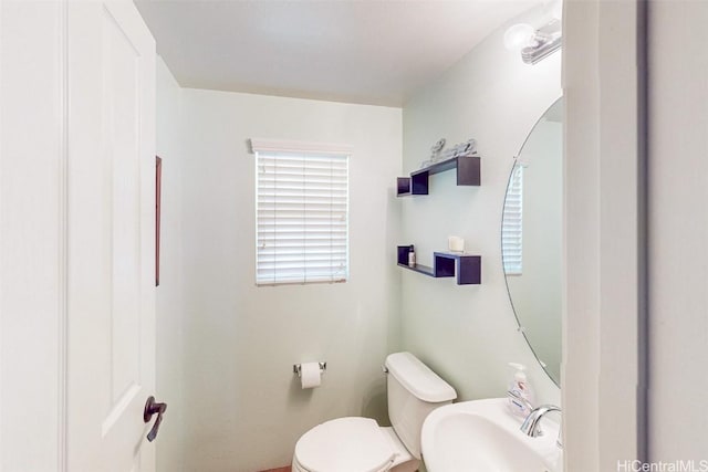
[[429,472],[560,472],[558,424],[544,418],[543,436],[522,433],[522,419],[506,398],[461,401],[434,410],[423,424],[420,443]]

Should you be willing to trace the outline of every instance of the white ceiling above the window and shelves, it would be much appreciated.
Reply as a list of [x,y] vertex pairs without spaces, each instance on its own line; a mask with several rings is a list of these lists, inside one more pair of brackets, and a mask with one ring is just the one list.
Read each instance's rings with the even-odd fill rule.
[[540,0],[134,0],[175,78],[402,106]]

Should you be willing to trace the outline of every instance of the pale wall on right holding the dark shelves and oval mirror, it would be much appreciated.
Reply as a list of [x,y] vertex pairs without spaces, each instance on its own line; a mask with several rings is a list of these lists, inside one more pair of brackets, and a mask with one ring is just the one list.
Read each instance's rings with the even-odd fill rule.
[[446,249],[448,235],[461,235],[466,250],[482,256],[482,283],[458,286],[400,270],[403,346],[448,380],[460,399],[503,396],[512,375],[507,363],[520,361],[529,366],[539,399],[558,405],[558,387],[517,332],[500,229],[513,156],[561,95],[561,55],[523,64],[504,49],[503,32],[492,33],[404,107],[406,172],[417,169],[441,137],[449,145],[477,138],[482,164],[478,188],[456,187],[449,171],[430,179],[430,195],[407,197],[398,243],[415,244],[418,262],[431,265],[433,251]]

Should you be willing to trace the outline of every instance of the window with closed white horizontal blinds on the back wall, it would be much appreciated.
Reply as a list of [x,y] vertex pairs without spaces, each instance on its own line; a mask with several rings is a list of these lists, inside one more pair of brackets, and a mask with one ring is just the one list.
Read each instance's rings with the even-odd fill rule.
[[251,140],[256,154],[256,283],[348,277],[348,153]]

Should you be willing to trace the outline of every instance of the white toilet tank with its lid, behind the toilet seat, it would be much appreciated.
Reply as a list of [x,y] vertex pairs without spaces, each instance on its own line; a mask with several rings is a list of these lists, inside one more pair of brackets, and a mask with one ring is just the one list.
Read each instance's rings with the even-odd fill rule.
[[430,411],[451,403],[455,389],[410,353],[386,357],[388,418],[408,451],[420,459],[420,430]]

